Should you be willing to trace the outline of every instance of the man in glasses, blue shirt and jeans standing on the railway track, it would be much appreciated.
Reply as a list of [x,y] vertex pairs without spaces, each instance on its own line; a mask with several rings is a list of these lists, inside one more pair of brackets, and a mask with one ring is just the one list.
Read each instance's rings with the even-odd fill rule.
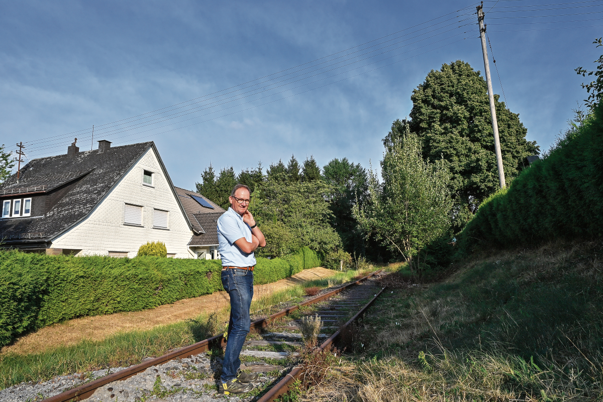
[[253,298],[253,251],[265,247],[264,234],[247,209],[251,191],[237,184],[229,197],[230,207],[218,219],[218,242],[222,259],[222,284],[230,296],[230,321],[222,375],[218,383],[220,394],[244,394],[251,391],[256,373],[239,370],[239,354],[251,325],[249,308]]

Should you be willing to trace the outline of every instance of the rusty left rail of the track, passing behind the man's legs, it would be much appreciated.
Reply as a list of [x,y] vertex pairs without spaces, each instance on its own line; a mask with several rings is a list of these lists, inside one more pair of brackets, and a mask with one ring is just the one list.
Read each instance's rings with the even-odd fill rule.
[[[268,322],[273,321],[274,319],[277,319],[277,318],[284,317],[284,316],[288,315],[289,313],[297,310],[300,306],[309,306],[311,304],[315,304],[320,301],[323,301],[324,299],[327,299],[340,292],[343,292],[350,286],[355,286],[357,284],[360,284],[361,281],[367,280],[368,278],[377,274],[377,272],[381,272],[381,271],[382,271],[382,269],[380,269],[379,271],[374,271],[371,274],[365,276],[364,278],[361,278],[355,282],[350,282],[348,284],[345,284],[344,286],[338,287],[337,289],[327,292],[324,295],[320,295],[320,296],[317,296],[310,300],[306,300],[305,302],[299,304],[298,306],[289,307],[288,309],[282,310],[278,313],[274,313],[273,315],[270,315],[267,318],[262,318],[262,319],[253,321],[253,322],[251,322],[251,329],[256,330],[256,331],[260,330],[261,328],[264,328],[266,325],[268,325]],[[337,333],[339,333],[339,331],[337,331],[336,334]],[[333,338],[333,337],[331,337],[331,338]],[[327,342],[328,342],[328,340],[327,340]],[[113,374],[106,375],[105,377],[101,377],[101,378],[98,378],[89,383],[80,385],[76,388],[69,389],[68,391],[62,392],[61,394],[54,395],[54,397],[46,398],[45,400],[42,400],[41,402],[81,401],[83,399],[90,397],[92,394],[94,394],[96,389],[100,388],[101,386],[107,385],[114,381],[125,380],[135,374],[138,374],[139,372],[145,371],[147,368],[149,368],[151,366],[160,365],[162,363],[168,362],[169,360],[175,360],[178,357],[182,358],[182,357],[188,357],[188,356],[192,356],[195,354],[199,354],[199,353],[209,350],[212,347],[223,347],[223,346],[226,346],[226,341],[224,341],[223,335],[212,336],[212,338],[204,339],[203,341],[197,342],[196,344],[192,344],[192,345],[171,351],[170,353],[164,354],[163,356],[159,356],[154,359],[147,360],[146,362],[139,363],[137,365],[128,367],[127,369],[115,372]],[[322,347],[322,345],[321,345],[321,347]]]

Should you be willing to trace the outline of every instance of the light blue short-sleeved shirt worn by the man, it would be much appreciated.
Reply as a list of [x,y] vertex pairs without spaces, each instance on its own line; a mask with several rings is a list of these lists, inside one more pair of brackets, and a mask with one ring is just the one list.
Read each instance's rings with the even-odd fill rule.
[[241,215],[231,207],[218,218],[218,243],[222,266],[254,266],[256,257],[252,253],[243,253],[235,244],[245,237],[251,243],[251,228],[243,222]]

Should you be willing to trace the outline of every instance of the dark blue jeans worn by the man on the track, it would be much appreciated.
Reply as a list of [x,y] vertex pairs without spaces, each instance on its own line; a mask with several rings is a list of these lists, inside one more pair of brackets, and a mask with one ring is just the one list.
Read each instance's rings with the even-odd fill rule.
[[223,383],[236,377],[241,366],[239,354],[249,333],[251,319],[249,307],[253,298],[253,272],[228,268],[222,271],[222,286],[230,296],[230,321],[221,380]]

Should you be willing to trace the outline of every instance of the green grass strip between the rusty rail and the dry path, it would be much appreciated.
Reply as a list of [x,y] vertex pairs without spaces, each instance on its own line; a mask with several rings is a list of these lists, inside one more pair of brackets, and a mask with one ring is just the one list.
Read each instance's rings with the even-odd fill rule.
[[[363,271],[364,272],[364,271]],[[251,304],[252,314],[268,315],[280,310],[280,303],[300,303],[307,287],[330,287],[349,281],[360,271],[337,272],[332,277],[309,281],[259,298]],[[272,311],[274,310],[274,311]],[[222,333],[229,309],[196,319],[165,325],[148,331],[131,331],[110,336],[104,341],[83,341],[72,347],[59,347],[38,354],[4,354],[0,356],[0,389],[24,381],[39,382],[54,375],[83,373],[101,368],[140,363],[147,356],[161,356]]]

